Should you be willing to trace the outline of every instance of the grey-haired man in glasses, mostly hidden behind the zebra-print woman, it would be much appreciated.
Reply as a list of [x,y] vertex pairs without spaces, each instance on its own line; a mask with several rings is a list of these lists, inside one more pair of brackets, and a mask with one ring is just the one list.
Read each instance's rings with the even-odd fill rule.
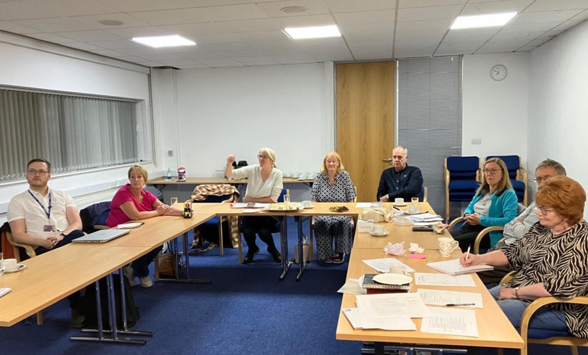
[[[552,159],[545,159],[543,162],[540,162],[535,169],[535,178],[534,181],[537,182],[537,188],[541,187],[544,182],[546,182],[550,177],[556,175],[566,175],[566,169],[560,163],[556,162]],[[527,207],[519,216],[515,219],[506,223],[505,230],[502,234],[505,236],[505,239],[498,242],[495,247],[492,249],[499,249],[500,247],[511,245],[515,243],[517,240],[521,239],[527,230],[530,229],[532,225],[539,222],[539,217],[537,217],[537,205],[535,202],[532,202],[529,207]],[[509,272],[511,272],[508,267],[506,266],[498,266],[495,267],[494,270],[479,272],[477,273],[483,283],[499,283],[503,277]]]

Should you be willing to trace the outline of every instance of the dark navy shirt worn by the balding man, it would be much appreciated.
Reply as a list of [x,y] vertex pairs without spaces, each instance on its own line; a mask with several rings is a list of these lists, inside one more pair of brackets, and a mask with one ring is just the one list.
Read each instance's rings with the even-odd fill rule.
[[382,172],[380,186],[377,187],[377,201],[380,197],[388,195],[390,201],[402,197],[410,201],[412,197],[419,196],[423,186],[423,175],[416,166],[406,165],[400,172],[392,167]]

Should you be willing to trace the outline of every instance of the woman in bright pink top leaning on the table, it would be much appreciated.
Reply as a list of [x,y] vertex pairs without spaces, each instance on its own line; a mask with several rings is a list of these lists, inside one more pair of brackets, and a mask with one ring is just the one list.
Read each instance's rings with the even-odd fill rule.
[[[182,210],[165,205],[151,192],[143,190],[143,185],[147,180],[147,171],[141,165],[131,166],[128,176],[129,183],[121,186],[112,197],[111,211],[106,219],[107,226],[115,227],[129,222],[129,220],[141,220],[162,215],[182,216]],[[161,249],[161,246],[156,247],[133,261],[131,266],[123,267],[131,286],[135,286],[135,277],[139,277],[141,286],[153,286],[151,278],[149,278],[149,264],[161,252]]]

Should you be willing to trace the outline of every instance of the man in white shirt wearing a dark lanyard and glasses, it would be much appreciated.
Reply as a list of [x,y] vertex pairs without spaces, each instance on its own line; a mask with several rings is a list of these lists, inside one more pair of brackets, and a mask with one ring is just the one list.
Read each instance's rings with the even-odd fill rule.
[[[49,189],[51,163],[32,159],[26,166],[29,189],[12,197],[8,205],[8,223],[12,237],[18,243],[34,247],[43,254],[71,243],[83,236],[82,220],[74,200],[68,193]],[[82,328],[84,317],[79,313],[80,293],[68,296],[74,328]]]

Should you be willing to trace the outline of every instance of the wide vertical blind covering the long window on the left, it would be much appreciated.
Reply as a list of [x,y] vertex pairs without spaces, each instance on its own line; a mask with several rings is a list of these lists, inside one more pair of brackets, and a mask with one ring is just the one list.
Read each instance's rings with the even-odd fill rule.
[[32,158],[52,173],[138,161],[134,101],[0,89],[0,181]]

